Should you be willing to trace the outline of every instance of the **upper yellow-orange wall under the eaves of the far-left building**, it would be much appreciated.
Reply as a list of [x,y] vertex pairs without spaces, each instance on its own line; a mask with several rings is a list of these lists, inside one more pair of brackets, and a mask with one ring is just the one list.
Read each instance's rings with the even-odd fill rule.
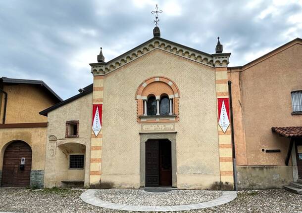
[[[47,122],[40,111],[55,104],[40,85],[4,85],[7,92],[7,107],[5,124]],[[3,119],[4,95],[2,95],[0,121]]]

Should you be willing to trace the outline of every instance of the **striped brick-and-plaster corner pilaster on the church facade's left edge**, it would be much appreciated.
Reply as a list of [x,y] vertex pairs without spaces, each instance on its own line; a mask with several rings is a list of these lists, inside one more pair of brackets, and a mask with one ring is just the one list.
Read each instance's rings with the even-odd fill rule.
[[[93,104],[103,103],[104,76],[94,75],[93,82]],[[99,188],[101,186],[101,150],[102,150],[102,129],[98,136],[91,130],[90,148],[90,187]]]

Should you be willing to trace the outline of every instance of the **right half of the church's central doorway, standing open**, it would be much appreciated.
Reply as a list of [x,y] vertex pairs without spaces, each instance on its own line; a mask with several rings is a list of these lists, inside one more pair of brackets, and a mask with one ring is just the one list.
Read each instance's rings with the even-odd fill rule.
[[172,185],[172,168],[171,168],[171,142],[169,140],[159,141],[159,176],[161,186]]

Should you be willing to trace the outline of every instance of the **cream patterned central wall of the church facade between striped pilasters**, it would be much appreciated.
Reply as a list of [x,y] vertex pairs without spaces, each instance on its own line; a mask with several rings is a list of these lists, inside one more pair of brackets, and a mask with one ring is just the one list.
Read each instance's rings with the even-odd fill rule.
[[[178,188],[210,188],[219,177],[215,71],[162,50],[104,77],[101,181],[140,187],[140,135],[135,93],[152,76],[165,76],[180,90],[176,123]],[[116,157],[118,156],[118,157]]]

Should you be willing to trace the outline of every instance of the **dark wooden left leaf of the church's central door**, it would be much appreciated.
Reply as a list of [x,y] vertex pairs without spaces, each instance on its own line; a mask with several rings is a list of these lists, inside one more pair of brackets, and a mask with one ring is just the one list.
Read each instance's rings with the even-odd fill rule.
[[158,187],[158,140],[146,142],[146,187]]

